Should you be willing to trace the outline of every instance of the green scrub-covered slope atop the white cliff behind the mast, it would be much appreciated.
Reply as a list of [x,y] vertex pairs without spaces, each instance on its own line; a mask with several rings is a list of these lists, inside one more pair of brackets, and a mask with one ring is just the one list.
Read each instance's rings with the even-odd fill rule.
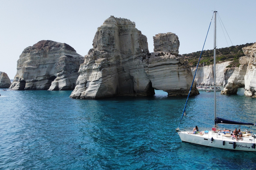
[[[227,67],[239,67],[239,57],[244,56],[242,50],[243,47],[253,45],[253,43],[246,43],[242,45],[230,46],[225,48],[216,49],[216,63],[223,61],[232,61]],[[198,63],[201,51],[192,52],[189,54],[183,54],[185,60],[189,62],[189,66],[195,67]],[[202,56],[199,62],[199,66],[213,64],[213,49],[203,50]]]

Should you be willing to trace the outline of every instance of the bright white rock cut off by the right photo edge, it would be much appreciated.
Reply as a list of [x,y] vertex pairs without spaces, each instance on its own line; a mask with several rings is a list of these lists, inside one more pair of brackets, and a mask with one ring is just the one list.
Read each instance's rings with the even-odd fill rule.
[[248,97],[256,97],[256,42],[242,49],[244,54],[249,57],[248,67],[244,77],[244,94]]

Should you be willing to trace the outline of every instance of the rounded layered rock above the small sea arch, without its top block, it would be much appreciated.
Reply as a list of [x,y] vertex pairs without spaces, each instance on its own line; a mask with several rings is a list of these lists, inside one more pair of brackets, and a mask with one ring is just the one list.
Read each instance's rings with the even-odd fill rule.
[[[168,96],[188,95],[193,75],[188,62],[184,62],[182,55],[173,55],[168,52],[151,53],[145,68],[148,69],[147,74],[155,89],[167,92]],[[191,90],[191,95],[195,94],[199,94],[196,83]]]

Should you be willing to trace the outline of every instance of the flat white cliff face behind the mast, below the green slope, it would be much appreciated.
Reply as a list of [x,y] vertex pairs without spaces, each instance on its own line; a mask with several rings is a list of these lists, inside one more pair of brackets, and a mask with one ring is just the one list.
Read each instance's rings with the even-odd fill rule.
[[[225,61],[216,64],[216,84],[221,86],[225,84],[224,70],[231,61]],[[195,74],[196,67],[192,67],[192,74]],[[213,85],[213,64],[204,67],[198,67],[195,82],[199,85]]]

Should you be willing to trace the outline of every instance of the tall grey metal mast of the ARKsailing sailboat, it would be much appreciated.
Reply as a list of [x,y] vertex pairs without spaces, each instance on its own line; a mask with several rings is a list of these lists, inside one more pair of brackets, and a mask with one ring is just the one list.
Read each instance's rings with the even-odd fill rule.
[[[214,82],[214,120],[216,120],[217,114],[216,114],[216,13],[217,11],[214,11],[214,48],[213,48],[213,54],[214,54],[214,73],[213,73],[213,82]],[[215,124],[215,127],[217,128],[218,124]]]

